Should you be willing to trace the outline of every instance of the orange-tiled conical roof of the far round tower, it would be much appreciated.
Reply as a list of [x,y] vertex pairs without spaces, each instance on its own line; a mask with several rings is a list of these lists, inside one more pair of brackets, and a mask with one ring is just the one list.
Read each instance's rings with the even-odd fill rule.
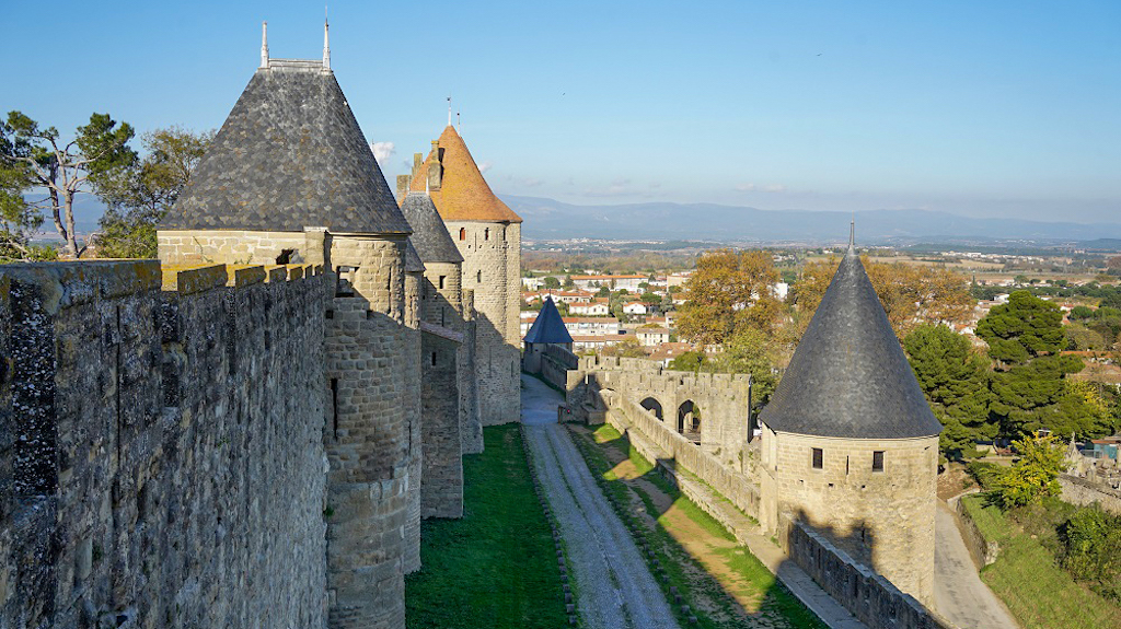
[[[491,191],[483,179],[475,160],[463,143],[463,138],[451,124],[444,129],[437,140],[437,147],[443,156],[436,158],[443,167],[439,189],[429,190],[433,203],[444,220],[487,220],[492,223],[521,223],[521,217],[506,206]],[[424,191],[427,181],[433,153],[420,167],[419,173],[413,178],[410,190]]]

